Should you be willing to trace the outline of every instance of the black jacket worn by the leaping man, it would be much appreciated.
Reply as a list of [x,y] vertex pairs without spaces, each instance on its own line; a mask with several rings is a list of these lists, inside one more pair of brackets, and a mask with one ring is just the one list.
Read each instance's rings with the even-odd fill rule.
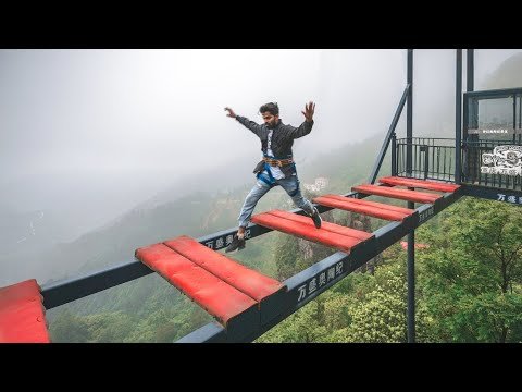
[[[266,124],[259,125],[258,123],[241,115],[236,115],[236,120],[258,135],[258,137],[261,139],[261,151],[263,151],[263,155],[266,156],[269,133],[271,131]],[[299,127],[295,127],[289,124],[283,124],[279,119],[279,122],[274,127],[274,132],[272,133],[271,148],[272,152],[274,152],[274,158],[293,158],[291,146],[294,145],[294,139],[308,135],[312,131],[312,126],[313,120],[311,122],[303,121]],[[287,164],[281,167],[281,170],[283,171],[283,174],[285,174],[285,177],[288,177],[296,172],[296,166],[294,163]]]

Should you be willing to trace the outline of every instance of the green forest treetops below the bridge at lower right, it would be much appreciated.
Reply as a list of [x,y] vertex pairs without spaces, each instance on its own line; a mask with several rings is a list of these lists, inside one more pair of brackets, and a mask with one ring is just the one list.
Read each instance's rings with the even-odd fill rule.
[[[463,198],[417,230],[428,245],[415,250],[418,342],[522,341],[521,223],[518,207]],[[373,273],[348,275],[258,341],[407,342],[406,306],[395,244]]]

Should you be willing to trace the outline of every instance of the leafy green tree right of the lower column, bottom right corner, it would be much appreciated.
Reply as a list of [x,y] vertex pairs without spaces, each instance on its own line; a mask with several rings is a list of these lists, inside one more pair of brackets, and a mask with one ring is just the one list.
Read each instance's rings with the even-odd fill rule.
[[437,320],[433,335],[447,342],[520,341],[522,210],[464,198],[445,217],[438,231],[420,230],[432,244],[419,258],[421,295]]

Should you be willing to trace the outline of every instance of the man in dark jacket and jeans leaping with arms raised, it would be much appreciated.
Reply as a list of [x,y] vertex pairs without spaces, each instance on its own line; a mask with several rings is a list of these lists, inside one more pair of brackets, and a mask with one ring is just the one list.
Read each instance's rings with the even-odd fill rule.
[[238,217],[239,229],[225,252],[245,247],[245,228],[250,221],[256,205],[266,192],[277,185],[286,191],[296,206],[302,208],[312,218],[315,228],[320,229],[321,216],[318,209],[301,195],[291,152],[294,139],[308,135],[312,131],[315,103],[304,105],[304,111],[301,111],[304,121],[299,127],[283,124],[276,102],[265,103],[259,109],[264,121],[262,125],[245,117],[236,115],[231,108],[225,108],[225,110],[228,111],[227,117],[236,119],[261,139],[261,151],[263,151],[263,160],[253,170],[257,183],[245,199]]

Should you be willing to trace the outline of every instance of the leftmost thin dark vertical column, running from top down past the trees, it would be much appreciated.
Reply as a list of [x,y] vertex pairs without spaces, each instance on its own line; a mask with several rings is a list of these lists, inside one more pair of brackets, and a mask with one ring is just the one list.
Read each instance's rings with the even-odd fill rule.
[[[406,172],[411,176],[412,169],[412,137],[413,137],[413,49],[408,49],[408,84],[410,90],[408,93],[407,106],[407,123],[406,123]],[[414,209],[415,204],[408,201],[408,208]],[[414,252],[415,234],[412,230],[408,234],[408,343],[415,342],[415,252]]]

